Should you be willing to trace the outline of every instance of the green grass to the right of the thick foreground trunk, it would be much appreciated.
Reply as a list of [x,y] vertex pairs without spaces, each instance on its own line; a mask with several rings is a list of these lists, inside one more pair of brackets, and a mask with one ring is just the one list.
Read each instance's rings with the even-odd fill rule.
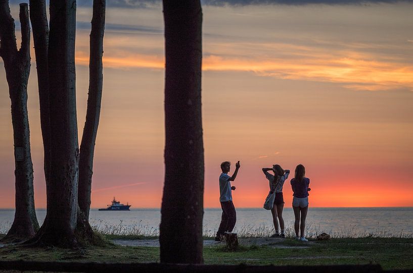
[[[292,239],[283,246],[250,246],[226,252],[223,247],[204,248],[205,263],[328,265],[379,263],[383,269],[413,269],[413,239],[333,239],[303,244]],[[302,248],[308,246],[307,248]]]

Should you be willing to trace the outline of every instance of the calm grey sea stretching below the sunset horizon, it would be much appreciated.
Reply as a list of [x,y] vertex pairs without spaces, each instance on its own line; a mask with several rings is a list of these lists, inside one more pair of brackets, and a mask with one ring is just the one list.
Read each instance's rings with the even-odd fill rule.
[[[13,223],[14,209],[0,209],[0,233],[7,233]],[[36,210],[39,224],[46,211]],[[293,236],[294,212],[285,208],[286,233]],[[214,236],[221,219],[220,208],[205,208],[204,236]],[[99,211],[91,209],[89,223],[107,234],[159,235],[159,208],[135,208],[130,211]],[[273,233],[271,212],[262,208],[237,208],[239,236],[266,237]],[[413,207],[317,207],[309,208],[306,236],[328,233],[337,238],[407,237],[413,238]]]

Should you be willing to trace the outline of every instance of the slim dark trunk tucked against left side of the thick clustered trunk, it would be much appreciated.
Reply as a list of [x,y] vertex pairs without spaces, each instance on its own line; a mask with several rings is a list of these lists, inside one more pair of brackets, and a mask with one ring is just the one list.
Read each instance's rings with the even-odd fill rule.
[[44,150],[44,177],[50,176],[50,102],[49,102],[49,23],[45,0],[30,0],[30,21],[33,27],[34,53],[36,56],[37,82],[40,102],[40,127]]

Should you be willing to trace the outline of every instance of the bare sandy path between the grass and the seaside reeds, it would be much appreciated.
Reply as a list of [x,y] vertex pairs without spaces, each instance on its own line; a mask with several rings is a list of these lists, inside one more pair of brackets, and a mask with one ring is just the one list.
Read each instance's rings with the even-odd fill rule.
[[[274,248],[307,248],[310,244],[314,244],[315,242],[305,242],[302,243],[302,246],[286,246],[283,245],[283,242],[286,239],[282,238],[246,238],[246,239],[238,239],[240,245],[269,245]],[[114,244],[122,245],[122,246],[150,246],[150,247],[159,247],[159,240],[121,240],[116,239],[112,240]],[[220,245],[224,244],[223,242],[215,242],[214,240],[204,240],[204,246],[213,246],[213,245]]]

